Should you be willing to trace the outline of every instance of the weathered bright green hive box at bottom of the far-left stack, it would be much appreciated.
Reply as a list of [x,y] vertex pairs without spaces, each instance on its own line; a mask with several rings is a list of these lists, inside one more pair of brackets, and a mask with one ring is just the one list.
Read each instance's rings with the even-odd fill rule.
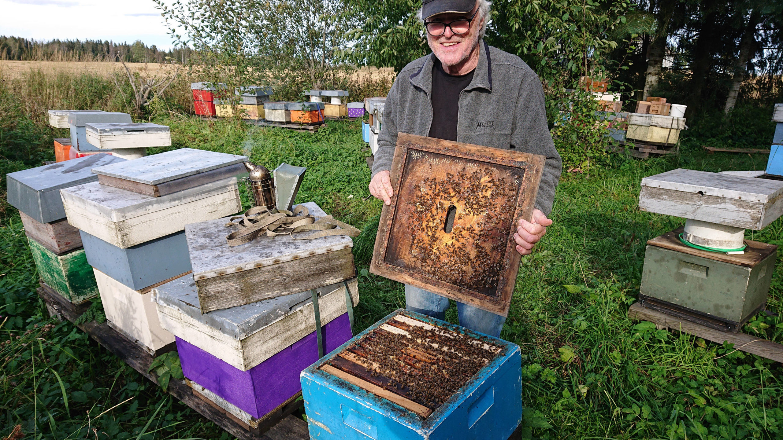
[[38,276],[52,290],[76,305],[98,296],[96,278],[84,249],[58,256],[35,240],[28,238],[27,241],[38,267]]

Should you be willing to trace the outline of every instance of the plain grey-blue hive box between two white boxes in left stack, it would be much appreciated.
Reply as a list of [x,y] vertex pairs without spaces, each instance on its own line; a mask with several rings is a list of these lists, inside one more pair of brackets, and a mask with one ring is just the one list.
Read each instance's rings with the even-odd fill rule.
[[79,234],[87,262],[132,290],[145,290],[191,270],[185,231],[124,249],[85,231]]

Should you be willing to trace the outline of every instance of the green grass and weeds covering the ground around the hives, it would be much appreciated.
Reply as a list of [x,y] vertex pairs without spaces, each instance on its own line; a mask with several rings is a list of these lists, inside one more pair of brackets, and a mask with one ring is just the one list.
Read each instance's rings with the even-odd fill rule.
[[[11,127],[14,111],[0,106],[3,174],[52,157],[52,137],[65,135],[21,116]],[[405,306],[401,284],[366,271],[381,204],[364,200],[369,152],[357,122],[330,122],[315,135],[179,116],[156,122],[171,125],[175,147],[246,152],[269,168],[281,162],[308,167],[298,201],[315,201],[359,228],[369,225],[356,240],[361,304],[355,331]],[[561,179],[554,225],[522,259],[501,335],[521,346],[526,438],[783,438],[780,364],[627,318],[646,240],[684,222],[639,211],[640,179],[680,167],[763,169],[767,160],[708,156],[698,142],[684,144],[678,157],[617,156],[590,175]],[[4,192],[4,176],[0,185]],[[0,218],[0,438],[16,424],[23,438],[229,438],[72,324],[49,319],[34,294],[38,276],[19,215],[3,201]],[[747,238],[783,244],[783,221]],[[783,342],[783,321],[775,315],[781,282],[778,265],[768,305],[773,314],[761,313],[745,332]],[[455,307],[447,318],[456,322]]]

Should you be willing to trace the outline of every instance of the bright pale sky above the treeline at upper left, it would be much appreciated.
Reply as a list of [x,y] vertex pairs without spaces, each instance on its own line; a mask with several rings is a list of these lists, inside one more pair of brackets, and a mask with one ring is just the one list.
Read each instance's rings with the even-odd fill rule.
[[170,49],[152,0],[0,0],[0,34],[49,41],[136,40]]

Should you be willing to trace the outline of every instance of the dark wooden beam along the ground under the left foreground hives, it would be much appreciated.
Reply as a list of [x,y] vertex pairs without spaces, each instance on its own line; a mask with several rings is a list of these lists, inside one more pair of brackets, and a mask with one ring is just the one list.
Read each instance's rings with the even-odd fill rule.
[[[44,287],[43,285],[41,287]],[[82,312],[73,308],[67,308],[60,304],[52,294],[45,288],[38,289],[38,294],[45,301],[47,307],[56,308],[64,319],[74,322]],[[56,296],[56,295],[55,295]],[[106,348],[112,354],[117,356],[123,362],[132,366],[134,370],[141,373],[153,384],[160,385],[157,376],[150,373],[150,365],[155,359],[146,350],[139,347],[128,337],[114,330],[109,323],[98,324],[91,323],[76,324],[79,329],[87,333],[92,339]],[[242,424],[236,423],[231,417],[227,416],[222,409],[215,409],[210,403],[204,402],[193,390],[189,388],[185,380],[171,380],[168,383],[168,393],[179,399],[182,403],[200,413],[207,420],[211,420],[222,429],[226,430],[240,440],[306,440],[309,438],[307,424],[301,419],[290,414],[301,408],[302,401],[297,400],[301,395],[295,395],[285,404],[278,407],[266,417],[258,420],[258,428],[248,431]]]

